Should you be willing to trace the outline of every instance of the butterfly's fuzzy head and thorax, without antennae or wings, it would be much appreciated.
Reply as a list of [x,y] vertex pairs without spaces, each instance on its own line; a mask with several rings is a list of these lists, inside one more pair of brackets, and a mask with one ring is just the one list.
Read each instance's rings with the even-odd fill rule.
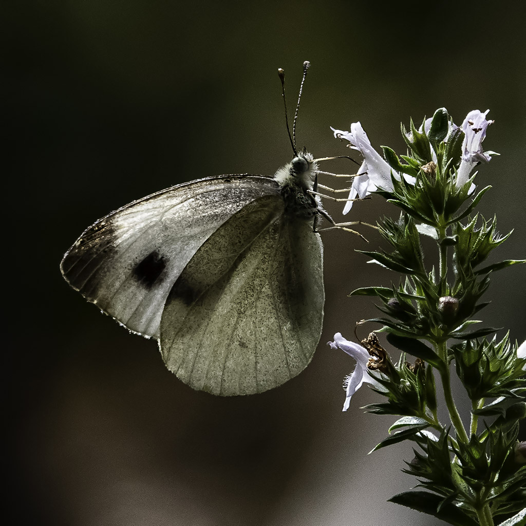
[[315,190],[317,165],[312,155],[304,152],[274,175],[285,201],[285,211],[294,217],[312,217],[319,207],[318,200],[310,192]]

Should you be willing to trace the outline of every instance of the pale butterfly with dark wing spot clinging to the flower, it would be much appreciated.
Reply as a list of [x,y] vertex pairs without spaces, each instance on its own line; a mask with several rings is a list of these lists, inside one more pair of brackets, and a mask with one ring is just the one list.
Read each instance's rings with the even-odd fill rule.
[[99,219],[66,252],[64,278],[158,340],[167,368],[194,389],[249,395],[295,377],[321,335],[326,213],[316,160],[291,144],[274,177],[198,179]]

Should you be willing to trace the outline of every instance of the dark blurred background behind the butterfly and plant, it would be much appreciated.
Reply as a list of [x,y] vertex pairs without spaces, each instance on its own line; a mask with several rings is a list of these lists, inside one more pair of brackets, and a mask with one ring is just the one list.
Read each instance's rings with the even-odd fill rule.
[[[414,484],[399,473],[412,454],[402,444],[367,456],[394,420],[363,414],[378,396],[362,389],[341,412],[354,363],[325,342],[377,314],[351,290],[398,279],[353,251],[361,239],[323,237],[326,319],[311,365],[236,399],[177,380],[155,342],[69,289],[59,262],[133,199],[206,176],[274,174],[291,156],[276,70],[292,108],[307,59],[297,135],[315,156],[348,153],[329,126],[360,120],[375,147],[404,153],[400,122],[446,106],[461,124],[490,108],[484,147],[502,156],[480,167],[478,187],[493,185],[480,210],[515,229],[491,261],[524,258],[523,5],[37,0],[9,3],[3,18],[12,523],[439,524],[386,502]],[[395,213],[377,197],[347,218]],[[520,341],[524,276],[496,275],[481,312]]]

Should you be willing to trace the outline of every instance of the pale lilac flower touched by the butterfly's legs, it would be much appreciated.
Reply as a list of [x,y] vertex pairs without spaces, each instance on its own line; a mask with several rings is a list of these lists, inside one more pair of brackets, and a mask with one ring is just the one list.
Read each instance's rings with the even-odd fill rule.
[[[358,170],[359,175],[352,181],[349,199],[356,199],[356,196],[362,199],[378,188],[387,191],[393,190],[391,167],[371,146],[371,141],[359,122],[351,124],[351,131],[337,130],[332,127],[331,130],[337,139],[348,140],[349,148],[358,150],[363,156],[363,163]],[[397,175],[400,178],[400,175]],[[343,214],[347,214],[351,207],[352,201],[347,201],[343,208]]]

